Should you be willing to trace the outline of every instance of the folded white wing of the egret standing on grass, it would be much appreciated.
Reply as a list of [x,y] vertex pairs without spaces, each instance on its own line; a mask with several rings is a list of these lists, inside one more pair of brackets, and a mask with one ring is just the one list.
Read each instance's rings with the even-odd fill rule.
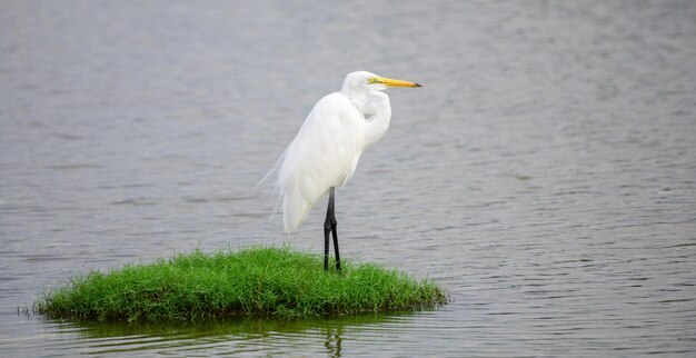
[[326,96],[311,110],[286,149],[278,172],[286,232],[305,220],[330,187],[344,185],[361,155],[364,118],[340,93]]

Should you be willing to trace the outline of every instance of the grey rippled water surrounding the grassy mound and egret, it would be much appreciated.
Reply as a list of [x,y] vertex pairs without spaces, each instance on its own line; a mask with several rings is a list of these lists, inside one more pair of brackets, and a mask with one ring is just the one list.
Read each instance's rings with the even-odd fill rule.
[[[40,356],[696,354],[696,2],[3,1],[0,346]],[[337,191],[346,258],[453,302],[193,327],[17,315],[91,269],[291,241],[253,186],[345,73],[389,133]]]

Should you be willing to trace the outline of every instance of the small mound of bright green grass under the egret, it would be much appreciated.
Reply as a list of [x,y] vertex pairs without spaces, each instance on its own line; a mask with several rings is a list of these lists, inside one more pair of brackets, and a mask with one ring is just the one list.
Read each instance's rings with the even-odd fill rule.
[[39,297],[50,318],[98,321],[206,320],[230,316],[312,317],[404,311],[446,302],[443,289],[374,263],[342,261],[287,247],[179,253],[150,265],[92,271]]

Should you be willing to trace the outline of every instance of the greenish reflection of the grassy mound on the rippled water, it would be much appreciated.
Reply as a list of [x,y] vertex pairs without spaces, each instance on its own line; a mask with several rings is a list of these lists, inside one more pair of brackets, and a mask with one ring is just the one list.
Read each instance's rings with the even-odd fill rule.
[[[205,350],[207,355],[269,350],[341,357],[345,329],[356,335],[362,328],[395,322],[408,316],[361,315],[306,320],[237,318],[166,325],[48,321],[47,325],[60,335],[82,337],[68,339],[62,349],[90,355],[159,351],[176,347],[181,356],[199,350]],[[321,351],[320,347],[325,350]]]

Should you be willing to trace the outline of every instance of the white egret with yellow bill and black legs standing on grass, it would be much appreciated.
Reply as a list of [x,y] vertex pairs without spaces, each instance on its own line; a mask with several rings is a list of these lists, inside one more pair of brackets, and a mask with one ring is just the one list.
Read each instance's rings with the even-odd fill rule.
[[315,105],[276,163],[286,233],[297,230],[319,198],[329,196],[324,222],[325,270],[329,268],[329,233],[334,238],[336,269],[340,270],[335,188],[350,180],[362,151],[387,132],[391,106],[389,97],[381,92],[387,87],[420,84],[367,71],[348,73],[339,92],[327,95]]

